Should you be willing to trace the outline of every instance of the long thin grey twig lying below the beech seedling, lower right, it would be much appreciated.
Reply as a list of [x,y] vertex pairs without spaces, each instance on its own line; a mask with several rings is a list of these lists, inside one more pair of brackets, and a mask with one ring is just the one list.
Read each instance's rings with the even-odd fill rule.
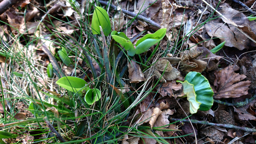
[[[170,118],[171,121],[182,121],[182,122],[187,122],[189,123],[188,119],[178,119],[178,118]],[[232,128],[232,129],[239,129],[239,130],[244,130],[244,131],[256,131],[256,129],[252,129],[249,127],[239,127],[239,126],[234,126],[234,125],[230,125],[230,124],[219,124],[219,123],[211,123],[211,122],[207,122],[207,121],[198,121],[195,119],[190,119],[191,123],[199,123],[199,124],[203,124],[203,125],[211,125],[211,126],[221,126],[221,127],[226,127],[226,128]]]

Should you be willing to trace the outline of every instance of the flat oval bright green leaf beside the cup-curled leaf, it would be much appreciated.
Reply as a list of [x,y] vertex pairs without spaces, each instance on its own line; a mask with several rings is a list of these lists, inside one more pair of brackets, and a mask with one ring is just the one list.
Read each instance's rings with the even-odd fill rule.
[[72,91],[74,93],[78,92],[79,94],[82,94],[83,90],[87,91],[90,89],[87,86],[84,87],[87,85],[85,80],[77,77],[63,77],[60,78],[56,83],[66,90]]

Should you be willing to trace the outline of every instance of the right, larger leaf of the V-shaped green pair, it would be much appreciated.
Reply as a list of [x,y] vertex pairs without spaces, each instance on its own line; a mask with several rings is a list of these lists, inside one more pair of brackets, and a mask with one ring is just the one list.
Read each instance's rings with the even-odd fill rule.
[[154,34],[146,34],[136,43],[135,53],[141,54],[149,50],[149,48],[163,39],[166,33],[166,28],[156,31]]

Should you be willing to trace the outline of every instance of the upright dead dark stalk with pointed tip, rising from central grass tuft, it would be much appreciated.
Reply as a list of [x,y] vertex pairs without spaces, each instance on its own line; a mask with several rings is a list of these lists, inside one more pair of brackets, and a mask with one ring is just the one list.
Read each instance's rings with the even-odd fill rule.
[[[103,30],[101,28],[101,26],[99,26],[101,29],[101,35],[102,35],[102,41],[103,41],[103,62],[104,62],[104,66],[106,69],[106,78],[107,78],[107,82],[111,85],[114,85],[114,79],[112,81],[112,71],[110,69],[110,62],[109,62],[109,55],[108,55],[108,47],[107,47],[107,42],[106,42],[106,38],[105,35],[103,33]],[[114,104],[116,102],[115,99],[117,98],[117,93],[114,91],[114,89],[108,85],[108,93],[109,96],[111,97],[111,103]],[[121,106],[117,105],[114,108],[115,113],[121,113]]]

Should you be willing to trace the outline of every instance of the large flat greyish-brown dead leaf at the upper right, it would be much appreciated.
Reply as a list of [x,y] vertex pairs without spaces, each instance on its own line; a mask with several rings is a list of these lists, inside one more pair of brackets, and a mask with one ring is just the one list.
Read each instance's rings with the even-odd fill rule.
[[[234,26],[229,25],[231,29],[235,29]],[[236,47],[239,50],[248,48],[250,42],[249,38],[240,32],[229,29],[228,26],[223,23],[210,22],[205,24],[207,33],[212,37],[220,37],[221,42],[225,42],[225,46]]]

